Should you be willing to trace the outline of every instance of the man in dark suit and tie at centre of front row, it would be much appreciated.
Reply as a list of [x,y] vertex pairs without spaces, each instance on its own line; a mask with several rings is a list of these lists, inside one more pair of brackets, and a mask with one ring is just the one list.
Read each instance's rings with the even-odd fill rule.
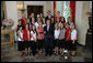
[[45,55],[51,55],[53,53],[53,39],[54,39],[54,31],[53,27],[50,25],[50,20],[47,20],[47,25],[44,28],[45,33]]

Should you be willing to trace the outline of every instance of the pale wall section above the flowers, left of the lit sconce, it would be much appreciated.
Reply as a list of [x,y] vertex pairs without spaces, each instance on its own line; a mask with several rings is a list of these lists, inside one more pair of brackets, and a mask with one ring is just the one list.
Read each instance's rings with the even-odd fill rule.
[[7,7],[7,18],[12,19],[14,21],[14,25],[12,27],[12,30],[14,30],[18,24],[16,1],[5,1],[5,7]]

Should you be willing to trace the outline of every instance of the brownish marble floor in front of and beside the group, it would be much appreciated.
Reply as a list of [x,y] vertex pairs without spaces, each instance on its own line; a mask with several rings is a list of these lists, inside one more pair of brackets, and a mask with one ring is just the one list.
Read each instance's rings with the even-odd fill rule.
[[92,52],[84,51],[82,46],[77,46],[77,55],[69,56],[67,60],[63,56],[45,56],[44,54],[31,55],[26,59],[25,54],[23,56],[19,55],[16,50],[16,44],[13,46],[11,44],[1,46],[1,62],[92,62]]

